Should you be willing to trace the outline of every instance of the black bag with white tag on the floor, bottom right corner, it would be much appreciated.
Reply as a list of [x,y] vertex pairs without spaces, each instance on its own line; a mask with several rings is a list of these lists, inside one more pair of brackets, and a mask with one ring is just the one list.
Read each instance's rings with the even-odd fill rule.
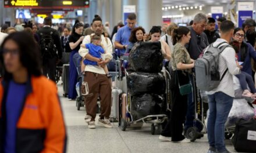
[[256,152],[256,120],[237,121],[232,143],[238,152]]

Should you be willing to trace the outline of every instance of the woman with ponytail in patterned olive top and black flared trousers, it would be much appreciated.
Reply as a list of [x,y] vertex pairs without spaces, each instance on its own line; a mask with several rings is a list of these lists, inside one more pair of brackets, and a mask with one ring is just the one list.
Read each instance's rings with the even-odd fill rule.
[[[190,59],[185,48],[190,41],[190,30],[187,27],[179,27],[173,31],[172,52],[172,112],[165,129],[159,136],[160,140],[173,143],[189,143],[190,140],[183,136],[183,123],[187,114],[187,94],[180,94],[179,85],[189,83],[189,74],[194,67],[194,60]],[[170,138],[172,137],[172,138]]]

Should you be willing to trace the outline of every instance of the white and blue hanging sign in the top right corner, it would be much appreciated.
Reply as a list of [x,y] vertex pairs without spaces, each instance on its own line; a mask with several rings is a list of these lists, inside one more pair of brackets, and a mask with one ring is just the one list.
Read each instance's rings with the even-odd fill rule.
[[253,18],[254,2],[238,2],[238,25],[242,27],[246,19]]

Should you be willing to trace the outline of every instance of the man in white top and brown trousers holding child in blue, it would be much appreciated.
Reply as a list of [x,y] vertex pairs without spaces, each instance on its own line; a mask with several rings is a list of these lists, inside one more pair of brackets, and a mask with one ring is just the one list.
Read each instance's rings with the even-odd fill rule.
[[[94,49],[97,48],[100,51],[101,47],[98,46],[98,41],[93,41],[93,43],[97,43],[97,46],[94,45],[86,45],[86,48],[80,48],[79,54],[85,60],[86,67],[84,68],[85,76],[84,82],[88,83],[88,96],[86,96],[86,122],[88,124],[88,128],[95,129],[95,117],[96,117],[96,110],[97,110],[97,99],[98,96],[101,97],[101,114],[99,115],[99,124],[105,126],[105,128],[112,128],[111,123],[109,122],[109,115],[111,114],[111,82],[108,76],[106,75],[107,71],[104,71],[104,67],[109,61],[112,59],[112,43],[109,38],[105,38],[102,35],[102,20],[101,17],[95,15],[93,19],[93,31],[95,32],[95,37],[101,37],[101,44],[104,46],[106,51],[105,58],[102,54],[100,58],[94,57]],[[82,44],[91,43],[91,36],[87,35]],[[93,46],[93,47],[92,47]],[[91,49],[90,49],[91,48]],[[93,51],[94,50],[94,51]],[[102,50],[101,50],[102,51]],[[99,53],[99,52],[98,52]],[[97,53],[97,54],[98,54]],[[104,60],[105,59],[105,60]],[[87,60],[94,61],[97,65],[87,63]],[[105,69],[106,70],[106,69]]]

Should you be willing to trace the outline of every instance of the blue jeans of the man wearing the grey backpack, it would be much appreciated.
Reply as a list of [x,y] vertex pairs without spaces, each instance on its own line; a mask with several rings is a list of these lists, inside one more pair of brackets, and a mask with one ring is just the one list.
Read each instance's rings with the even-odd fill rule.
[[215,147],[219,152],[226,151],[224,143],[225,122],[232,108],[233,99],[233,97],[222,92],[208,95],[208,141],[210,147]]

